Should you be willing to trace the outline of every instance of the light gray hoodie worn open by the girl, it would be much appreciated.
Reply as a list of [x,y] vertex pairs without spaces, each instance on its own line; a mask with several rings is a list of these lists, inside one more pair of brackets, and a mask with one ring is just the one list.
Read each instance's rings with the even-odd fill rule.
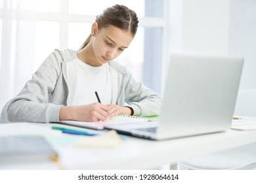
[[[32,79],[1,112],[5,122],[59,122],[60,107],[66,105],[68,86],[66,63],[77,58],[77,51],[54,50]],[[112,76],[112,102],[133,108],[135,116],[160,114],[161,97],[141,82],[136,81],[125,67],[116,61],[110,65]]]

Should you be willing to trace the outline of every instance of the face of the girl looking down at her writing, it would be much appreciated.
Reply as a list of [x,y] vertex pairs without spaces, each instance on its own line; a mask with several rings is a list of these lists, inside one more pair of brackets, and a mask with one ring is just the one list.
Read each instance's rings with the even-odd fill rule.
[[98,24],[95,23],[92,26],[92,34],[93,52],[99,65],[116,59],[133,41],[133,35],[129,31],[123,31],[113,25],[98,29]]

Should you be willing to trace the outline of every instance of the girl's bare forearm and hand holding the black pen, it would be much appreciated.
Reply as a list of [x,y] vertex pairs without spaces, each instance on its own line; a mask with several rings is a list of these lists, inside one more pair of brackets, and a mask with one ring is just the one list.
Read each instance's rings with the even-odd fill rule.
[[63,106],[60,108],[59,112],[59,120],[98,122],[106,120],[107,117],[108,107],[101,103],[79,106]]

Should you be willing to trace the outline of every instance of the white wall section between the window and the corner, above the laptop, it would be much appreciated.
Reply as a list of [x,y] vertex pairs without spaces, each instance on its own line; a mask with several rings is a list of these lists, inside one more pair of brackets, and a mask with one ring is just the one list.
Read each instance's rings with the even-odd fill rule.
[[169,53],[228,54],[229,0],[171,0]]

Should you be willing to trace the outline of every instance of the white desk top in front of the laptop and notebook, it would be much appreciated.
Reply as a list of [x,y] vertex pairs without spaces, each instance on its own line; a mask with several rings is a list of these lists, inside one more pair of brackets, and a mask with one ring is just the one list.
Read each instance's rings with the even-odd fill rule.
[[[13,124],[1,124],[4,127]],[[56,124],[37,124],[51,129]],[[60,126],[60,125],[59,125]],[[88,130],[87,130],[88,131]],[[8,133],[8,132],[5,132]],[[67,169],[151,169],[166,163],[182,161],[185,158],[201,156],[255,142],[256,131],[228,130],[223,133],[199,135],[168,141],[149,141],[127,137],[125,142],[113,149],[75,148],[67,145],[54,145],[60,162]],[[54,144],[54,143],[53,143]],[[56,165],[17,165],[15,169],[55,169]],[[12,169],[1,166],[0,169]]]

